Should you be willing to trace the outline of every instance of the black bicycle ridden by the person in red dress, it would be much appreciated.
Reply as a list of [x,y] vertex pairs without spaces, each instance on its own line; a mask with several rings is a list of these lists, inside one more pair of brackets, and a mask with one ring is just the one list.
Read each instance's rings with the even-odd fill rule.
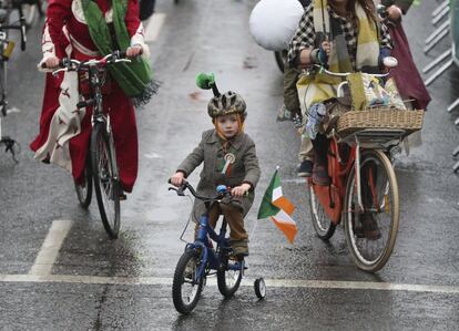
[[110,113],[104,113],[102,107],[102,85],[108,74],[108,65],[130,61],[125,59],[125,52],[115,51],[100,60],[80,62],[63,59],[60,63],[61,68],[53,72],[58,74],[75,71],[89,76],[90,96],[79,102],[76,107],[92,106],[91,157],[86,158],[83,183],[75,182],[74,184],[78,199],[83,208],[88,208],[91,204],[92,185],[94,185],[102,224],[112,239],[118,238],[120,230],[120,196],[123,190],[116,164]]

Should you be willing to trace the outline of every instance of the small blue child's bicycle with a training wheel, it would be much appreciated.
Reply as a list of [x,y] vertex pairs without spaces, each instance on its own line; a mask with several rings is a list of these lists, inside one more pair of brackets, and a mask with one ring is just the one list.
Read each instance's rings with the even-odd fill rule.
[[[216,188],[217,196],[214,198],[200,196],[187,183],[178,187],[170,187],[178,196],[184,196],[184,190],[204,203],[207,213],[200,218],[197,236],[193,244],[187,244],[185,252],[175,267],[174,280],[172,283],[172,298],[175,309],[181,313],[190,313],[197,304],[201,292],[207,276],[216,275],[220,292],[225,297],[232,297],[239,288],[244,273],[244,259],[232,259],[230,238],[226,238],[226,220],[223,219],[222,228],[217,235],[208,224],[208,210],[213,203],[221,203],[222,198],[230,195],[225,185]],[[212,241],[216,242],[214,249]],[[266,287],[263,278],[255,280],[255,293],[263,299]]]

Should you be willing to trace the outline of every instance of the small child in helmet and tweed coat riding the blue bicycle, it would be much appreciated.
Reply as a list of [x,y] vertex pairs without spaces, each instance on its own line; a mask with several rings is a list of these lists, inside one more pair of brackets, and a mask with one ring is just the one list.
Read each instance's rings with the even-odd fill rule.
[[[204,163],[197,185],[200,195],[213,197],[218,185],[231,187],[231,197],[211,206],[208,221],[215,227],[218,216],[224,215],[231,229],[233,255],[241,258],[248,256],[244,216],[252,207],[255,186],[261,175],[255,143],[244,133],[247,112],[245,101],[239,94],[232,91],[222,95],[217,93],[208,102],[207,111],[215,128],[203,133],[201,143],[181,163],[171,183],[181,186]],[[204,213],[204,205],[196,200],[192,211],[194,220]]]

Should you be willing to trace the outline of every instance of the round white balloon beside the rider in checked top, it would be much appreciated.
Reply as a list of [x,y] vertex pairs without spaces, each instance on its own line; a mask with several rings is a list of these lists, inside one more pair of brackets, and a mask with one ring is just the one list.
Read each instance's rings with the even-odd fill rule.
[[261,0],[251,13],[251,34],[268,51],[285,50],[303,13],[304,8],[298,0]]

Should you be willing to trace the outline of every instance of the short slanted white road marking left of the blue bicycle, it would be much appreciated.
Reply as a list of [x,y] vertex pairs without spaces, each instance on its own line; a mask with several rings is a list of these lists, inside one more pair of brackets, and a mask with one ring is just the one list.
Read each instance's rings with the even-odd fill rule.
[[71,220],[54,220],[52,223],[35,262],[29,271],[29,276],[47,277],[51,273],[59,250],[71,227]]

